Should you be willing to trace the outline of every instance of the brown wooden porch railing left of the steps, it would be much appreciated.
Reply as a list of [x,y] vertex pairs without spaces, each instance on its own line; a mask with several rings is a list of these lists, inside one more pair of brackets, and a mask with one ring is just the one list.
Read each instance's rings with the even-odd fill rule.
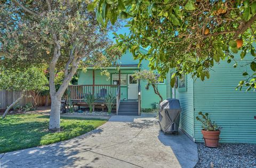
[[105,98],[109,94],[116,96],[119,85],[69,85],[69,99],[83,100],[86,94],[93,94],[95,97]]

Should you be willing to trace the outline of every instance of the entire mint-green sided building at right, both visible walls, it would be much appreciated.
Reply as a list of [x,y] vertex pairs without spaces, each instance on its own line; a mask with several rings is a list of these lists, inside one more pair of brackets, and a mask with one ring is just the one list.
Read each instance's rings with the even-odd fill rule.
[[[239,59],[239,54],[235,55]],[[252,56],[247,53],[248,61]],[[245,57],[245,58],[246,58]],[[248,63],[241,61],[241,65]],[[180,128],[195,142],[203,142],[201,123],[196,120],[198,112],[208,112],[210,118],[221,129],[220,142],[256,144],[256,93],[235,90],[240,80],[245,80],[242,73],[250,71],[250,66],[237,66],[227,61],[215,64],[210,79],[201,81],[190,75],[179,79],[178,87],[167,85],[167,97],[180,100]],[[170,75],[166,81],[170,81]]]

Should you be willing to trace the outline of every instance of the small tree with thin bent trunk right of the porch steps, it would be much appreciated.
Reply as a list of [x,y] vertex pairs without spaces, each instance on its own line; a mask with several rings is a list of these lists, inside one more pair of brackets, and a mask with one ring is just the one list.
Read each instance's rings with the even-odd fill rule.
[[158,90],[158,83],[160,79],[159,74],[156,74],[153,71],[149,71],[149,70],[142,70],[142,71],[135,72],[133,74],[133,77],[136,80],[147,81],[147,85],[145,86],[146,90],[148,90],[151,85],[154,89],[154,93],[160,98],[159,104],[163,102],[163,97],[161,96]]

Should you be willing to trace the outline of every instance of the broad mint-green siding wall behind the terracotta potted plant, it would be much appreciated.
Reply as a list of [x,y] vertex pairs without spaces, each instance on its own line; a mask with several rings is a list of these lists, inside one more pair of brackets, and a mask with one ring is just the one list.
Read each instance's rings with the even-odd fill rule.
[[[236,57],[239,58],[238,55]],[[239,65],[246,62],[240,61]],[[249,70],[250,65],[233,68],[233,64],[221,61],[214,65],[210,79],[195,81],[195,117],[200,111],[209,112],[211,119],[222,127],[220,142],[256,144],[256,93],[245,93],[245,88],[235,90],[238,82],[245,79],[242,73]],[[195,141],[203,142],[201,123],[194,120]]]

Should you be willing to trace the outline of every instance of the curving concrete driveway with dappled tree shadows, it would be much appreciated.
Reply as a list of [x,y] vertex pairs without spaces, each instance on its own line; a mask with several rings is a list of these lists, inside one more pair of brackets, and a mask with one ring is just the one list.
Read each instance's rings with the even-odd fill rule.
[[164,136],[153,114],[112,116],[85,135],[52,145],[0,154],[0,167],[194,167],[189,138]]

